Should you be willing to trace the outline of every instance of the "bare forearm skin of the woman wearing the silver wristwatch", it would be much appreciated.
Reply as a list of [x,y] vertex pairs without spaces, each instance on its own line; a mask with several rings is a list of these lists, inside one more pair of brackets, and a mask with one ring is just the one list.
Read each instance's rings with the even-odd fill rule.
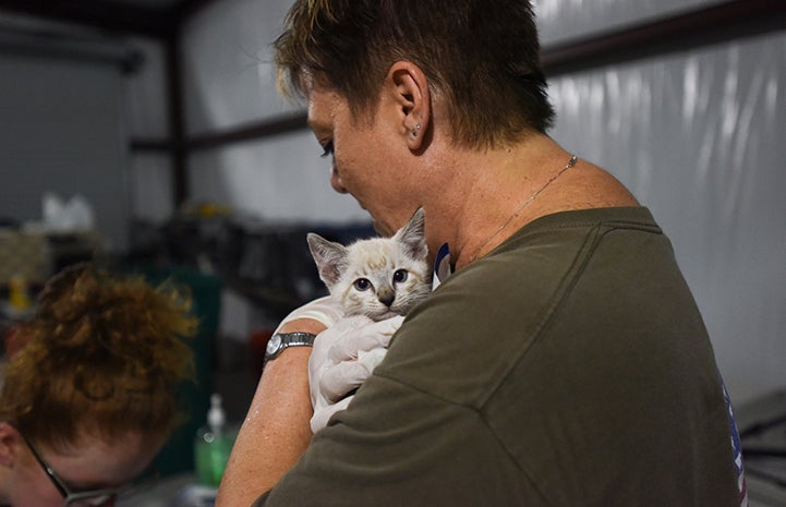
[[[318,334],[325,324],[300,318],[279,331]],[[249,507],[271,488],[311,442],[310,347],[290,347],[265,365],[229,457],[216,507]]]

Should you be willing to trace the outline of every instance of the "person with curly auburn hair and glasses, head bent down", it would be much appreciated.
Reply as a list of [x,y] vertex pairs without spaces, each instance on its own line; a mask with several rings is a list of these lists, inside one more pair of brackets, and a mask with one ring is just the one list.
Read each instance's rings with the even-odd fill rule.
[[0,505],[108,506],[183,420],[188,291],[81,264],[14,331],[0,390]]

